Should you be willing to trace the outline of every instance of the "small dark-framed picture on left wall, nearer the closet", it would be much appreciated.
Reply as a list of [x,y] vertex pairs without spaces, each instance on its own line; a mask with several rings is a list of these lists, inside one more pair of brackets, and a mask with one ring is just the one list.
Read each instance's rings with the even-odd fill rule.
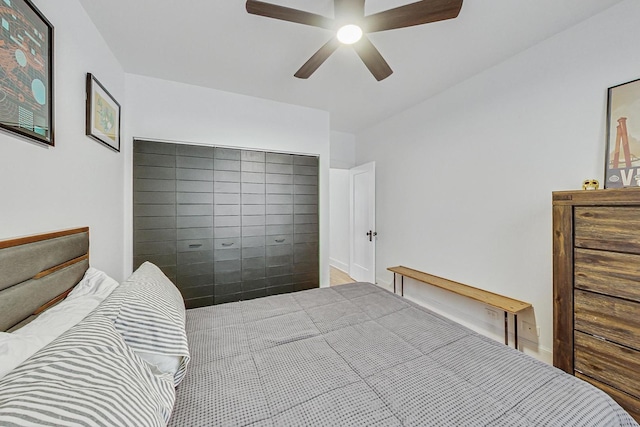
[[120,151],[120,104],[91,73],[87,73],[86,131],[96,141]]

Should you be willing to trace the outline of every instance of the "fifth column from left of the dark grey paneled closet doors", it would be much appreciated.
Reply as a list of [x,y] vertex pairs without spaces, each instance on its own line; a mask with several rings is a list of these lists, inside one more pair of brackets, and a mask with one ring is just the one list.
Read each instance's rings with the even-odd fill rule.
[[269,295],[293,292],[293,156],[267,153]]

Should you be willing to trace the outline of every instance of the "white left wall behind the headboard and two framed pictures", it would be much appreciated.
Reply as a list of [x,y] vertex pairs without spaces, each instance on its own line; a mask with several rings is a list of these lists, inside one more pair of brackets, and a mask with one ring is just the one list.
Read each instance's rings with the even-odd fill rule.
[[34,3],[55,28],[55,147],[0,132],[0,239],[89,226],[91,264],[121,279],[125,156],[85,136],[85,76],[122,102],[124,71],[77,0]]

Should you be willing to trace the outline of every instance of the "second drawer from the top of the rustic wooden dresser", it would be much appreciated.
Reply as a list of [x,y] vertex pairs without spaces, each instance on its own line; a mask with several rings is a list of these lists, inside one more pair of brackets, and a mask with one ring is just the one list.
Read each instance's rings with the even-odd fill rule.
[[575,287],[640,302],[640,255],[575,249]]

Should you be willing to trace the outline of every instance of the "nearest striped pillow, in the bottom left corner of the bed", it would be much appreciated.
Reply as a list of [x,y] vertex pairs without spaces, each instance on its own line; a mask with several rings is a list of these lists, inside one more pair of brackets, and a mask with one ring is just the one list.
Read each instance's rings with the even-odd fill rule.
[[91,314],[0,380],[0,425],[164,426],[175,388]]

